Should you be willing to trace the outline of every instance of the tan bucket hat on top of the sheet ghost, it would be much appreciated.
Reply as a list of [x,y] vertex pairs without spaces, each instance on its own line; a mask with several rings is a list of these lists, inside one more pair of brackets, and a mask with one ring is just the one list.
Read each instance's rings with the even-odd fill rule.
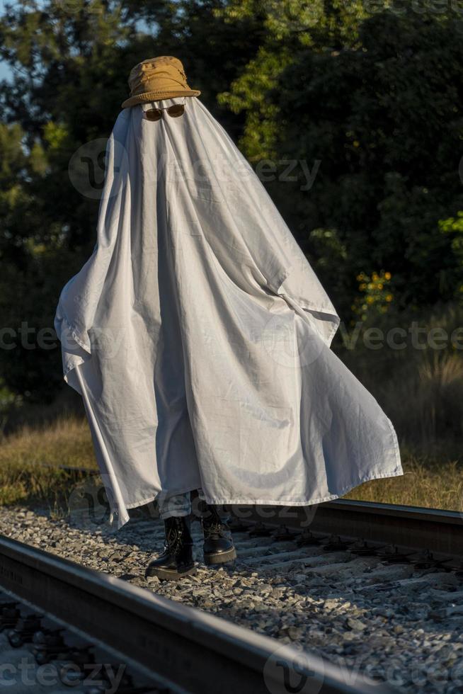
[[139,62],[130,70],[130,97],[122,102],[122,108],[137,103],[159,101],[174,96],[199,96],[199,89],[190,89],[183,65],[173,55],[159,55]]

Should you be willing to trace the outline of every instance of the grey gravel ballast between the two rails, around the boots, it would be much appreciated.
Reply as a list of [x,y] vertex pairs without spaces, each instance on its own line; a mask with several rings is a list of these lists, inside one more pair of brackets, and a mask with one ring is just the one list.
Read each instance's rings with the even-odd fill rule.
[[[463,691],[463,579],[440,569],[384,564],[319,545],[234,533],[238,559],[205,567],[193,523],[198,571],[181,581],[144,579],[162,550],[160,520],[135,517],[118,533],[105,525],[0,509],[0,533],[106,571],[364,673],[404,693]],[[346,673],[346,676],[349,676]]]

